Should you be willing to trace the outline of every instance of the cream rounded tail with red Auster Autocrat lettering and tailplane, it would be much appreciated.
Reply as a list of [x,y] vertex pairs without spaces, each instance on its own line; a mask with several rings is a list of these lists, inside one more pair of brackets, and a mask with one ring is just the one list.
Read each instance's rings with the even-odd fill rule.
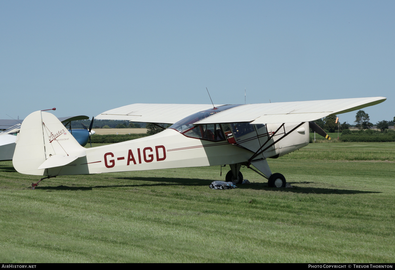
[[49,112],[29,114],[16,143],[12,162],[14,168],[24,174],[48,175],[47,168],[64,166],[86,156],[85,148]]

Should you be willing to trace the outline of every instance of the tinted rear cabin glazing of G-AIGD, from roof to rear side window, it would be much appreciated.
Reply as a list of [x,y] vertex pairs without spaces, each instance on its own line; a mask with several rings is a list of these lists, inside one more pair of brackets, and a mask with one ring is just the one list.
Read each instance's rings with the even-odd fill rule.
[[224,106],[219,106],[218,108],[213,108],[211,110],[197,112],[180,120],[179,122],[173,124],[169,128],[175,129],[188,137],[204,139],[209,141],[222,141],[225,139],[225,136],[220,124],[207,124],[207,125],[195,126],[194,123],[203,120],[211,115],[214,115],[218,112],[222,112],[237,106],[240,105],[224,105]]

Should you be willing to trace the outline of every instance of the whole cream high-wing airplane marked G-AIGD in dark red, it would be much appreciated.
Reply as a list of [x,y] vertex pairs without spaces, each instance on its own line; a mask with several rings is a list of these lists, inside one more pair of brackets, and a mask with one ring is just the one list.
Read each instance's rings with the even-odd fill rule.
[[384,100],[350,98],[214,108],[208,104],[132,104],[103,112],[96,119],[174,124],[155,135],[93,148],[79,145],[53,114],[36,111],[22,123],[13,166],[23,174],[46,176],[43,180],[59,175],[229,164],[226,180],[241,183],[240,167],[246,165],[267,178],[269,187],[284,187],[285,177],[272,174],[268,157],[307,146],[309,127],[325,137],[310,121]]

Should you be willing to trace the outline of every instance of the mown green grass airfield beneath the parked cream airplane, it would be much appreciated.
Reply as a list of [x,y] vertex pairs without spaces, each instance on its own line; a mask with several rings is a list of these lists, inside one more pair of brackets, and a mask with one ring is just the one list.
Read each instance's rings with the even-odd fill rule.
[[215,166],[59,176],[31,190],[37,176],[0,162],[0,261],[394,262],[394,149],[310,144],[270,159],[293,189],[242,168],[251,185],[212,190],[229,169]]

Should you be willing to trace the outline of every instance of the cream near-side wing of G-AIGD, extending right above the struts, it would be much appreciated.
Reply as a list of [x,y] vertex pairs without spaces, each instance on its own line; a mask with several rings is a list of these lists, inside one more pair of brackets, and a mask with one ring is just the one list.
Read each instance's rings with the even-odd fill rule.
[[246,104],[216,113],[194,124],[309,122],[331,114],[359,110],[384,100],[386,98],[375,97]]

